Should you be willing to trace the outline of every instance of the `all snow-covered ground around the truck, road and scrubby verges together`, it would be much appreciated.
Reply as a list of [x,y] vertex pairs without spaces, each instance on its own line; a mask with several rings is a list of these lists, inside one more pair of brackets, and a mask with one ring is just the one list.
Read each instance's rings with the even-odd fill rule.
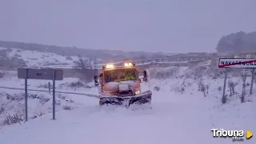
[[[186,69],[188,71],[188,69]],[[184,69],[180,70],[184,72]],[[183,74],[180,74],[183,75]],[[210,129],[250,130],[256,132],[256,104],[254,95],[246,95],[246,102],[240,103],[239,95],[242,82],[231,77],[238,83],[236,93],[228,96],[226,104],[221,103],[223,79],[203,79],[209,84],[206,95],[198,91],[198,81],[185,76],[170,76],[168,79],[153,80],[142,84],[143,89],[154,91],[152,109],[148,107],[98,107],[98,99],[85,95],[58,95],[56,120],[51,120],[51,94],[47,92],[29,91],[29,119],[26,123],[16,123],[0,128],[0,142],[4,144],[220,144],[233,143],[231,138],[213,138]],[[65,79],[57,82],[59,91],[76,91],[97,93],[97,88],[70,88],[76,79]],[[44,80],[29,80],[29,88],[47,84]],[[68,83],[68,84],[66,84]],[[4,77],[0,86],[22,88],[23,80],[15,77]],[[247,78],[246,84],[250,84]],[[60,86],[62,85],[62,87]],[[89,86],[92,84],[88,84]],[[250,87],[246,86],[246,93]],[[6,99],[4,94],[17,94],[21,98],[23,91],[1,89],[0,106],[7,110],[0,113],[22,114],[24,99]],[[226,94],[229,95],[229,88]],[[11,96],[10,95],[10,96]],[[40,97],[41,95],[41,97]],[[15,96],[14,96],[15,97]],[[42,100],[43,99],[43,100]],[[47,100],[48,101],[47,101]],[[65,108],[69,106],[71,108]],[[43,115],[41,115],[43,114]],[[41,115],[41,116],[39,116]],[[244,143],[255,143],[256,139],[245,140]]]

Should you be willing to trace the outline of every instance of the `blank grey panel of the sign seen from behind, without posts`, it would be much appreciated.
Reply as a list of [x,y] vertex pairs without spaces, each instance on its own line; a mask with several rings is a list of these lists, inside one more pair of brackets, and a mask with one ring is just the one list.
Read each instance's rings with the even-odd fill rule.
[[[36,79],[36,80],[63,80],[63,70],[60,69],[31,69],[18,68],[19,79]],[[26,73],[27,72],[27,73]]]

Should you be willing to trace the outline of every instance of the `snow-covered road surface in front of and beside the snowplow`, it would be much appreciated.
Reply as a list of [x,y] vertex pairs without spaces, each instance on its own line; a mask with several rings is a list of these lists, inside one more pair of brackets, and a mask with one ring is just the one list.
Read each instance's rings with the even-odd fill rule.
[[[122,107],[98,107],[98,99],[77,97],[84,103],[73,111],[59,111],[57,120],[43,115],[27,123],[0,129],[4,144],[199,144],[233,143],[231,138],[213,138],[211,128],[256,130],[255,117],[245,117],[253,105],[209,110],[199,96],[156,91],[153,109],[132,111]],[[246,115],[248,116],[248,115]],[[244,143],[255,143],[255,139]]]

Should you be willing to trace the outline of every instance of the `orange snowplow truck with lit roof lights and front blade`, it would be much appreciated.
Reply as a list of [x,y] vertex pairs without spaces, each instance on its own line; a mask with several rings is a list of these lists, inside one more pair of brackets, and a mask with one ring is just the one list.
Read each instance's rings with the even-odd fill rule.
[[[125,105],[151,103],[152,91],[141,91],[141,83],[147,82],[146,71],[140,79],[140,72],[132,62],[122,66],[106,64],[102,73],[94,76],[95,85],[99,84],[99,105]],[[99,82],[98,82],[99,80]]]

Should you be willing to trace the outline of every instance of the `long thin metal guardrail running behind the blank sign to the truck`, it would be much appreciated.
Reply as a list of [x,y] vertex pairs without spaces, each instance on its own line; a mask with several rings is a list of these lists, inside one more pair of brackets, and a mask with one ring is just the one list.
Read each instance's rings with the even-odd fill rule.
[[[0,88],[25,91],[25,88],[10,88],[10,87],[1,87],[1,86],[0,86]],[[27,90],[28,90],[28,91],[49,92],[49,91],[46,91],[46,90],[39,90],[39,89],[27,89]],[[50,91],[50,92],[53,92],[53,91]],[[86,95],[86,96],[93,97],[93,98],[99,98],[98,95],[91,95],[91,94],[78,93],[78,92],[67,92],[67,91],[55,91],[55,92],[56,92],[56,93],[62,93],[62,94]]]

